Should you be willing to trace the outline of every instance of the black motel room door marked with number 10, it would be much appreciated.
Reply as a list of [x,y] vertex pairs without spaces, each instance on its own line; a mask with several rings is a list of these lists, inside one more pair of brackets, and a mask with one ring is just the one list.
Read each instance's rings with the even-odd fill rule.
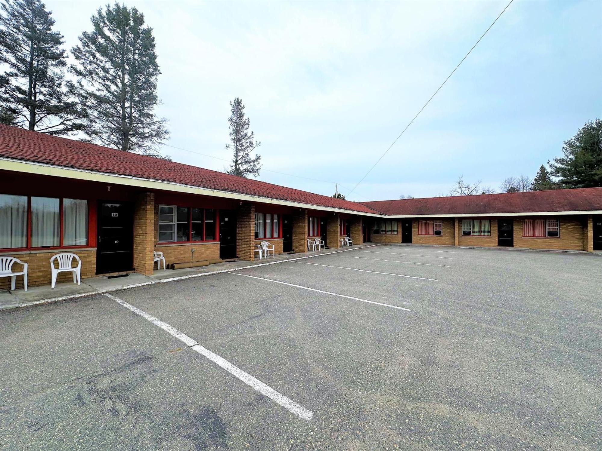
[[131,271],[134,239],[132,205],[124,202],[98,203],[96,274]]

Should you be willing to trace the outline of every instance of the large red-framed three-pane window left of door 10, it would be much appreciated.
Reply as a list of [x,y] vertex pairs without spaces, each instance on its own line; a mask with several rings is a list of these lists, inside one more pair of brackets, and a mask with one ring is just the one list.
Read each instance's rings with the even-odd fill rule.
[[87,244],[88,201],[0,194],[0,249]]

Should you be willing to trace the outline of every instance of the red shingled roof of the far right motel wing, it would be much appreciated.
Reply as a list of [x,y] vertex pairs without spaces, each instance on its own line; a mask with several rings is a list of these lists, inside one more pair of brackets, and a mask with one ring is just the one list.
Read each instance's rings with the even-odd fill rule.
[[462,215],[602,210],[602,188],[363,202],[385,215]]

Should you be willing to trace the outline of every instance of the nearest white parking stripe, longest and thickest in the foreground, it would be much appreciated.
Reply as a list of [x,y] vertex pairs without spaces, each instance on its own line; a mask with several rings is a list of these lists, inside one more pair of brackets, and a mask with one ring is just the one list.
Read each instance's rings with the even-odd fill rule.
[[278,391],[274,390],[272,387],[265,385],[263,382],[259,381],[259,379],[256,379],[249,373],[244,372],[239,367],[230,363],[225,358],[220,357],[214,352],[209,351],[209,349],[203,348],[203,346],[199,345],[199,343],[197,343],[195,340],[191,339],[175,327],[172,327],[166,322],[155,318],[151,314],[146,313],[146,311],[140,310],[140,308],[134,307],[134,305],[128,304],[128,302],[123,301],[123,299],[119,299],[116,296],[113,296],[109,293],[105,293],[105,296],[107,296],[107,298],[113,299],[113,301],[118,302],[119,304],[123,305],[123,307],[128,308],[129,310],[133,311],[135,314],[141,316],[142,318],[152,322],[152,324],[160,327],[171,336],[176,337],[176,339],[185,343],[185,345],[189,346],[190,349],[192,349],[193,351],[198,352],[200,355],[203,355],[204,357],[208,358],[213,363],[216,363],[217,365],[225,369],[227,372],[231,373],[232,375],[243,381],[245,384],[249,385],[249,387],[254,388],[255,390],[259,391],[259,393],[272,399],[274,402],[278,403],[291,413],[295,414],[297,417],[303,420],[311,420],[314,416],[312,411],[300,406],[292,399],[289,399],[288,397],[284,396],[284,394],[278,393]]

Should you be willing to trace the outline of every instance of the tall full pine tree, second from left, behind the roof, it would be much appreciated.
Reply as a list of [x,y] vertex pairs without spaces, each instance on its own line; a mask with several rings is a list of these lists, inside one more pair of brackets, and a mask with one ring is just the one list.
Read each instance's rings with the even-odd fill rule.
[[104,146],[159,156],[169,132],[155,115],[161,72],[152,28],[137,8],[117,3],[99,8],[92,26],[72,49],[78,80],[71,88],[90,114],[85,133]]

